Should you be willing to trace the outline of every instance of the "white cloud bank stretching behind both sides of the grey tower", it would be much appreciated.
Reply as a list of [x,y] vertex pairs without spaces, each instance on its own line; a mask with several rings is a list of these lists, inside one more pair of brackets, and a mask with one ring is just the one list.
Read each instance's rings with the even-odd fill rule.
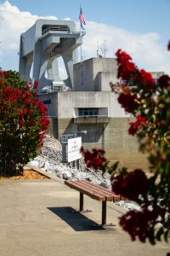
[[[3,69],[18,69],[20,49],[20,33],[25,32],[39,18],[57,19],[54,16],[40,17],[22,12],[9,1],[0,4],[0,66]],[[70,18],[65,18],[70,20]],[[77,22],[77,31],[79,23]],[[170,73],[170,56],[166,45],[161,44],[159,34],[155,32],[137,34],[95,21],[88,21],[86,36],[83,38],[82,55],[86,59],[95,57],[99,45],[106,43],[106,56],[113,57],[116,49],[124,49],[132,55],[133,61],[140,68],[149,71],[165,71]],[[80,53],[80,51],[79,51]],[[60,72],[63,67],[60,67]]]

